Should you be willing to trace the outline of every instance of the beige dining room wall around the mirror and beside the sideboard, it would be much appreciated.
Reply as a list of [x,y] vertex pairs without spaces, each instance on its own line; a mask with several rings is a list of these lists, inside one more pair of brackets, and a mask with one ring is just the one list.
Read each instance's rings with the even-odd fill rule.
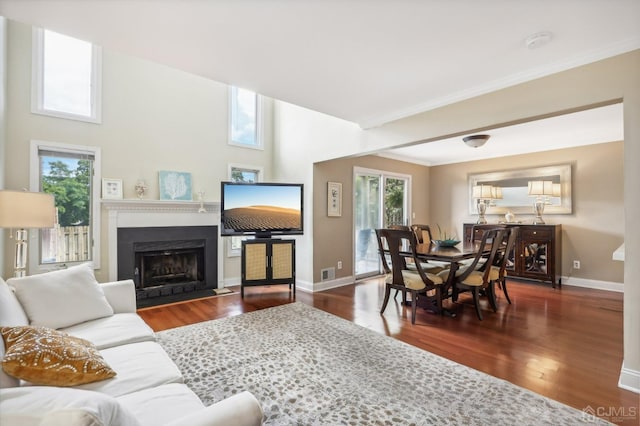
[[[624,242],[623,162],[624,144],[612,142],[432,167],[431,218],[433,223],[450,223],[458,235],[463,223],[477,220],[469,214],[469,173],[570,163],[573,213],[543,216],[546,223],[562,225],[561,274],[622,283],[624,264],[612,260],[611,254]],[[524,223],[531,223],[533,217],[518,215]],[[497,223],[504,217],[487,215],[487,220]],[[573,260],[580,260],[580,270],[571,270]]]

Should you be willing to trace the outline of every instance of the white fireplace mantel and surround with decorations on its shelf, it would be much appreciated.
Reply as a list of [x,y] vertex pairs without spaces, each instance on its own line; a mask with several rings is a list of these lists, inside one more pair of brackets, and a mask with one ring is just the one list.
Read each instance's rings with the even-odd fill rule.
[[[102,200],[109,212],[109,280],[118,279],[118,228],[149,226],[220,226],[220,203],[205,201]],[[218,230],[218,237],[220,231]],[[223,245],[218,238],[218,285],[223,285]]]

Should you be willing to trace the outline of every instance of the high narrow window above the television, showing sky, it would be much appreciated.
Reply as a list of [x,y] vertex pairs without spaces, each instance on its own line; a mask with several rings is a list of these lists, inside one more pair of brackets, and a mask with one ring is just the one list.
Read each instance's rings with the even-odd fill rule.
[[255,92],[231,87],[229,98],[229,143],[262,149],[260,97]]

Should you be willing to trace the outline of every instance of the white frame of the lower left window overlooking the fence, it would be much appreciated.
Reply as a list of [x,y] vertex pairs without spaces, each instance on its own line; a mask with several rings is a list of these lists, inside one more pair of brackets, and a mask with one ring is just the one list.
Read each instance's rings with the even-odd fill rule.
[[[72,152],[72,153],[89,153],[93,155],[93,180],[91,188],[91,233],[93,237],[92,241],[92,256],[91,262],[93,269],[100,269],[100,182],[101,182],[101,149],[96,146],[85,145],[71,145],[58,142],[47,142],[32,140],[30,146],[29,155],[29,188],[30,191],[40,191],[40,158],[38,153],[40,150],[58,151],[58,152]],[[31,230],[34,232],[35,230]],[[35,232],[34,232],[35,234]],[[86,262],[65,262],[64,264],[42,264],[40,263],[40,238],[31,238],[32,241],[38,241],[37,247],[32,247],[28,252],[29,256],[29,271],[32,273],[47,272],[55,269],[63,268],[66,266],[76,265]],[[35,246],[35,244],[34,244]]]

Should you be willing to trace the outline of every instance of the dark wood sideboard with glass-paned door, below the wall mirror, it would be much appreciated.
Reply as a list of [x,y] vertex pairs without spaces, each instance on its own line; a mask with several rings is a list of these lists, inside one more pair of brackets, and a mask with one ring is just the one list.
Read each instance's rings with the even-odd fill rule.
[[[473,225],[464,224],[465,240],[471,238]],[[562,285],[562,225],[505,225],[520,228],[513,252],[509,255],[507,275],[550,282],[554,288],[556,283]]]

